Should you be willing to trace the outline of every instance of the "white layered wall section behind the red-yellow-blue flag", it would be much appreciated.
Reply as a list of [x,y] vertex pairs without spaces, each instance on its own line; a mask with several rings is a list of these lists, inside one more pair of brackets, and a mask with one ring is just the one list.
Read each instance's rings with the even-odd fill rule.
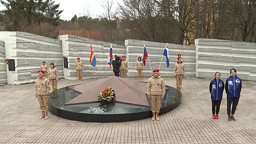
[[[92,78],[92,77],[109,77],[113,76],[114,73],[107,65],[107,58],[109,56],[109,49],[111,43],[102,42],[94,39],[88,39],[84,37],[77,37],[74,35],[61,35],[60,40],[62,41],[62,51],[63,56],[67,57],[68,68],[64,68],[64,78],[65,79],[78,79],[77,72],[75,69],[75,63],[77,58],[83,62],[84,70],[82,72],[83,78]],[[89,63],[91,55],[91,46],[94,51],[94,55],[98,64],[95,67],[91,66]],[[126,47],[112,44],[113,57],[116,54],[117,56],[126,55]],[[106,70],[107,65],[107,70]],[[100,73],[99,73],[99,70]],[[106,73],[105,73],[106,70]]]

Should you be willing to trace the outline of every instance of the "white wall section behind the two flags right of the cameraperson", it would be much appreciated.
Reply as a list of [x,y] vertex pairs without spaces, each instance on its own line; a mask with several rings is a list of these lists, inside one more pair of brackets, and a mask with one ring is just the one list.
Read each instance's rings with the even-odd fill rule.
[[[169,49],[169,61],[170,66],[166,67],[166,57],[163,56],[163,51],[165,49],[166,43],[159,42],[147,42],[140,40],[128,39],[125,41],[126,51],[128,53],[127,60],[129,65],[128,76],[137,77],[137,70],[135,70],[136,61],[138,57],[143,58],[144,44],[147,49],[148,57],[151,63],[152,70],[159,69],[161,59],[163,57],[160,74],[161,77],[174,77],[173,70],[178,54],[182,55],[182,58],[185,63],[186,76],[195,77],[195,46],[186,46],[179,44],[168,44]],[[146,60],[146,65],[142,71],[142,77],[149,77],[153,72],[149,65],[149,60]]]

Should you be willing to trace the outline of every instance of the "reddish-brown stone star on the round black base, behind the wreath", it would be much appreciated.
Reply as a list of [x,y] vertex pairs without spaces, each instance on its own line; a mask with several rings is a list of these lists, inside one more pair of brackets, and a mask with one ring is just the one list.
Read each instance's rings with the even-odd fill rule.
[[108,87],[114,89],[116,94],[114,101],[116,102],[149,107],[145,95],[147,93],[147,83],[115,76],[69,87],[82,94],[64,105],[98,102],[99,93]]

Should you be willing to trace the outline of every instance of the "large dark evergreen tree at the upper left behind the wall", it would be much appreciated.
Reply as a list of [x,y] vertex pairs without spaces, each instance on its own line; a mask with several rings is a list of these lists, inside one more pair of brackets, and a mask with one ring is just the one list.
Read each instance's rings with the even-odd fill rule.
[[21,30],[24,26],[48,23],[58,26],[58,19],[63,10],[59,10],[59,4],[54,0],[0,0],[6,7],[3,13],[6,15],[4,23],[10,31]]

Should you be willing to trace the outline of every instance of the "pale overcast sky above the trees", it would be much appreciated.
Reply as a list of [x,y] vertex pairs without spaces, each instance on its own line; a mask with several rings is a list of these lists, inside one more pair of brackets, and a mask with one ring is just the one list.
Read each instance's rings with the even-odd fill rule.
[[[115,10],[117,2],[120,2],[121,0],[113,1],[115,1],[115,6],[113,9]],[[67,21],[71,20],[75,14],[77,17],[84,16],[85,14],[96,18],[97,16],[102,16],[102,13],[105,12],[104,9],[100,6],[102,0],[55,0],[55,4],[58,3],[60,3],[59,9],[64,10],[61,13],[61,19]],[[5,9],[5,6],[0,4],[0,10],[2,9]]]

